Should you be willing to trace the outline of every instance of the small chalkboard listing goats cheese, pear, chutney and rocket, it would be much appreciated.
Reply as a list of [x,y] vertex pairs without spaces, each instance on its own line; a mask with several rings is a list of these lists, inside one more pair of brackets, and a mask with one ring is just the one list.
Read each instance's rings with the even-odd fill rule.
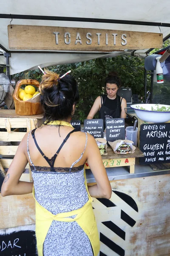
[[106,119],[106,140],[125,140],[125,119],[111,118]]

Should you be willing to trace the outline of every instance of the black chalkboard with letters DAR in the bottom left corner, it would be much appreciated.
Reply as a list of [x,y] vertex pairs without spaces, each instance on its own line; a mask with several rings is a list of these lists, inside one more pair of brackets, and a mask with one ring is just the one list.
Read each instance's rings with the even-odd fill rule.
[[[24,228],[26,229],[27,226],[7,229],[7,232],[0,230],[0,255],[38,256],[35,231],[23,230]],[[12,231],[8,232],[8,230]]]

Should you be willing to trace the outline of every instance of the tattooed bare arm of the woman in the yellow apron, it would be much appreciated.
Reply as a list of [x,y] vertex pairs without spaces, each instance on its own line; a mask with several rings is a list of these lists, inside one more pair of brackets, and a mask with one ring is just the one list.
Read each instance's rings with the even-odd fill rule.
[[6,173],[1,187],[1,195],[23,195],[32,192],[33,182],[20,181],[24,169],[28,163],[26,154],[28,133],[23,137],[14,159]]

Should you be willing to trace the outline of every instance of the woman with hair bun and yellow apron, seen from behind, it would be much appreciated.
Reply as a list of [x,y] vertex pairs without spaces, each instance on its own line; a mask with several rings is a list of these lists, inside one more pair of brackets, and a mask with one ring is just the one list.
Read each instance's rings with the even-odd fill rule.
[[[38,256],[97,256],[99,235],[91,197],[109,199],[111,185],[94,137],[70,124],[79,99],[77,82],[70,75],[60,79],[56,73],[45,73],[40,83],[44,125],[24,136],[1,195],[33,191]],[[96,185],[87,186],[86,161]],[[27,163],[34,183],[20,181]]]

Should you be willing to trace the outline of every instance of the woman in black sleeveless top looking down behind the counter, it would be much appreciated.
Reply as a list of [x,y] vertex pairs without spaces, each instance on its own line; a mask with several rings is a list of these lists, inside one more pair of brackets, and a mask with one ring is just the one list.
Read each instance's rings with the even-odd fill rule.
[[106,118],[126,118],[124,108],[127,107],[126,100],[117,95],[117,90],[121,86],[119,76],[110,72],[105,79],[106,94],[98,96],[94,102],[87,119],[93,119],[94,115],[99,111],[99,118],[103,119],[105,129]]

